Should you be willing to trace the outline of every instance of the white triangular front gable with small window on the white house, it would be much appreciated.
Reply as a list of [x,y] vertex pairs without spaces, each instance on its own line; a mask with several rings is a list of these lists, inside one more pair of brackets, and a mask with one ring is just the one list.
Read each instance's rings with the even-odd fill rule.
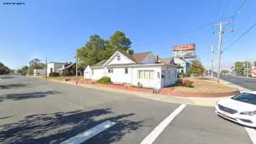
[[108,61],[103,64],[103,66],[113,65],[113,64],[135,64],[135,61],[132,61],[132,59],[127,58],[127,56],[124,56],[123,53],[120,53],[116,51],[109,59]]

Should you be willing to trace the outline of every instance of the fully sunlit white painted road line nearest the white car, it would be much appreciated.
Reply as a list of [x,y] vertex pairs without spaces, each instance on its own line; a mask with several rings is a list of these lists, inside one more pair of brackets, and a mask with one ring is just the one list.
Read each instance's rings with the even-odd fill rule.
[[159,134],[165,129],[165,127],[170,124],[171,121],[178,115],[178,113],[181,113],[181,110],[184,109],[186,105],[180,105],[176,110],[173,111],[167,118],[165,118],[164,121],[162,121],[148,136],[140,143],[140,144],[151,144],[154,142],[154,140],[157,139]]

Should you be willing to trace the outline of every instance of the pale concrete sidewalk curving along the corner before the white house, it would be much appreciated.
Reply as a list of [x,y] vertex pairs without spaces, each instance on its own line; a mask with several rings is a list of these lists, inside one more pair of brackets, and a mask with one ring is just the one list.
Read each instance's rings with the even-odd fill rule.
[[[49,81],[76,85],[74,82],[64,82],[59,80],[49,80]],[[181,96],[168,96],[165,94],[149,94],[149,93],[144,93],[139,91],[127,91],[127,90],[113,89],[113,88],[99,88],[96,86],[80,84],[80,83],[78,83],[78,86],[84,87],[84,88],[94,88],[100,91],[110,91],[114,93],[127,94],[129,96],[136,96],[143,99],[152,99],[160,102],[178,103],[178,104],[187,104],[187,105],[200,105],[200,106],[209,106],[209,107],[214,107],[216,105],[216,102],[219,101],[220,99],[226,99],[227,97],[231,97],[231,96],[216,97],[216,98],[181,97]]]

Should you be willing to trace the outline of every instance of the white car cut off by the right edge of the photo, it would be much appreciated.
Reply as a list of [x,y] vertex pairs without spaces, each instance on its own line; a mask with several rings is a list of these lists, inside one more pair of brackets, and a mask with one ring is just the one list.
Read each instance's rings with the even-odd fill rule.
[[256,128],[256,91],[219,100],[215,108],[222,118]]

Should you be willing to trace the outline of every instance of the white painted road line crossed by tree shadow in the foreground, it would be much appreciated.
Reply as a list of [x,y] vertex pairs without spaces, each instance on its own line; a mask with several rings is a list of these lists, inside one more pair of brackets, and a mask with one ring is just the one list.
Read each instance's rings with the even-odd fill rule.
[[93,128],[87,130],[86,132],[82,132],[75,137],[71,137],[69,140],[65,140],[61,144],[78,144],[78,143],[83,143],[86,140],[89,140],[91,137],[94,137],[96,134],[99,134],[100,132],[105,131],[106,129],[110,128],[113,126],[114,122],[112,121],[105,121],[102,124],[99,124],[97,126],[94,126]]

